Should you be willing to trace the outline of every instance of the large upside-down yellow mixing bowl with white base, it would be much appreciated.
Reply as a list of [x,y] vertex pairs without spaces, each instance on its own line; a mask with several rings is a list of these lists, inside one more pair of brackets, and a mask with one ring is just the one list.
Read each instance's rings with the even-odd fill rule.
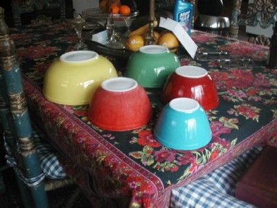
[[43,94],[63,105],[86,105],[107,78],[117,77],[114,65],[94,51],[71,51],[46,71]]

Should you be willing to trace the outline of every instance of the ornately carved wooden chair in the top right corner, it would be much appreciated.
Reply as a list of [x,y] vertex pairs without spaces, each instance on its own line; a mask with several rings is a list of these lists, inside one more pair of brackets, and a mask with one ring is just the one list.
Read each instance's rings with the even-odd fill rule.
[[[242,0],[233,0],[233,10],[231,12],[231,26],[229,37],[238,38],[240,26],[257,26],[262,29],[268,28],[277,19],[277,1],[254,0],[247,6],[247,13],[241,12]],[[270,41],[265,35],[258,35],[251,38],[253,43],[269,45]]]

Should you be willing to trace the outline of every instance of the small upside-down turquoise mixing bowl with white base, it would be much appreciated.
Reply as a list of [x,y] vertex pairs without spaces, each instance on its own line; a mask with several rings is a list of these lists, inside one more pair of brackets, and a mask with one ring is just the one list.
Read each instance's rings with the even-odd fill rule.
[[211,141],[212,132],[206,112],[192,98],[175,98],[161,112],[154,137],[175,150],[196,150]]

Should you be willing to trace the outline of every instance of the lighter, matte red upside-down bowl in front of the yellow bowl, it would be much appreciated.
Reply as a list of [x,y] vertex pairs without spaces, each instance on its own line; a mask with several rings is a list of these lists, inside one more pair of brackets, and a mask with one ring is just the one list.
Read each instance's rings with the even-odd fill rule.
[[145,89],[131,78],[110,78],[96,89],[89,106],[89,119],[103,130],[141,128],[150,121],[152,107]]

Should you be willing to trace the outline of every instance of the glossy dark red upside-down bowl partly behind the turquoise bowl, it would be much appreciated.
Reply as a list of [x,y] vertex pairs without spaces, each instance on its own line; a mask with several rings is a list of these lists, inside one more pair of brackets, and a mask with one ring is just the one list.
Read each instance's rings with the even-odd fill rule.
[[178,67],[163,87],[162,100],[165,103],[174,98],[193,98],[204,110],[213,110],[219,103],[217,89],[208,71],[202,67]]

